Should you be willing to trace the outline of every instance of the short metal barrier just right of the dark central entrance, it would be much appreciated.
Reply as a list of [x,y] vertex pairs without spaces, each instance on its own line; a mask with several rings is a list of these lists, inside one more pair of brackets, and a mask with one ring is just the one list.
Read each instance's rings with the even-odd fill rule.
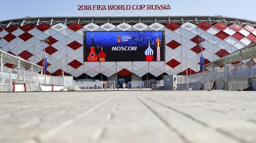
[[131,89],[158,88],[164,86],[164,80],[161,81],[131,81],[129,82]]

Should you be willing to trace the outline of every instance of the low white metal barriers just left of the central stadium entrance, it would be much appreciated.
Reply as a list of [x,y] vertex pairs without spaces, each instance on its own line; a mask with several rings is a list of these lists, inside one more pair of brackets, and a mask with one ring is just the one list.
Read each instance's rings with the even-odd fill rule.
[[74,81],[74,90],[114,90],[115,81]]

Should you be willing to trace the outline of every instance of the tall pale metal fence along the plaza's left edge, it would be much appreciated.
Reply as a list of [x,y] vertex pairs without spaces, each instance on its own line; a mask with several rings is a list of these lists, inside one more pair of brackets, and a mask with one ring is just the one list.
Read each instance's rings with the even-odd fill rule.
[[38,91],[39,84],[63,85],[63,77],[43,75],[3,67],[0,69],[0,91],[12,91],[13,82],[26,85],[27,91]]

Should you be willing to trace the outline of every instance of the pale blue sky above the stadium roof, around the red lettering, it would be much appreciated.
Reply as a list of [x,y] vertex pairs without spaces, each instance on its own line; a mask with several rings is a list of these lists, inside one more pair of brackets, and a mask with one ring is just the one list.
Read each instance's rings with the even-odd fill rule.
[[39,16],[79,16],[77,5],[134,5],[134,4],[169,4],[170,16],[214,16],[223,15],[256,21],[256,1],[224,0],[3,0],[0,6],[0,20]]

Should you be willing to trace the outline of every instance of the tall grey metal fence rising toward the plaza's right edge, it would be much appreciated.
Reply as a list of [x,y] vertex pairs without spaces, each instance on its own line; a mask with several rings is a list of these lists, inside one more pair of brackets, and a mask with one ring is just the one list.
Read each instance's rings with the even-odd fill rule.
[[[178,89],[185,90],[201,83],[202,89],[212,89],[217,81],[225,81],[224,89],[240,90],[248,87],[248,79],[256,75],[255,62],[236,63],[188,76],[178,77]],[[197,84],[197,85],[195,85]],[[196,88],[198,89],[198,88]]]

